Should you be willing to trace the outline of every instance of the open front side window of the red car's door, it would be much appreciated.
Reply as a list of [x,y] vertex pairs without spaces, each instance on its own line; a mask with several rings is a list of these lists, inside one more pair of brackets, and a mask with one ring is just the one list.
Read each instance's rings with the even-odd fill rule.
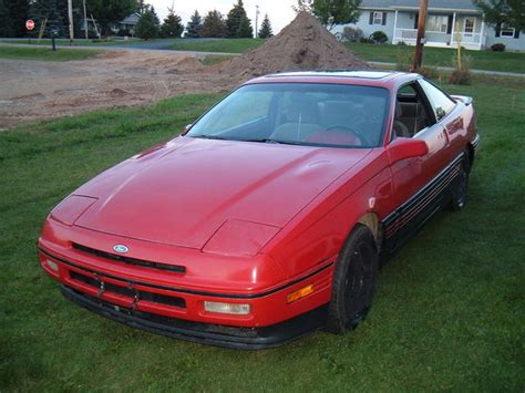
[[432,124],[426,104],[422,100],[420,89],[414,83],[398,90],[395,113],[392,126],[392,139],[412,137]]

